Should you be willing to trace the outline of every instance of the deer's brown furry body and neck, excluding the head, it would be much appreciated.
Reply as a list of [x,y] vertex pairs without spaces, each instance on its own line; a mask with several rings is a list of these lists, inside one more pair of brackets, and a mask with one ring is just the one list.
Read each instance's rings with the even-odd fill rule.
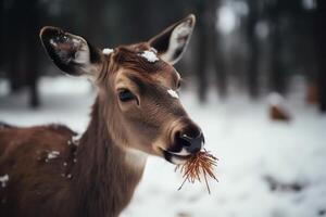
[[[64,126],[0,130],[0,176],[9,175],[0,187],[0,216],[117,216],[141,173],[123,164],[125,153],[112,145],[101,110],[97,101],[78,146]],[[46,162],[49,151],[60,156]]]

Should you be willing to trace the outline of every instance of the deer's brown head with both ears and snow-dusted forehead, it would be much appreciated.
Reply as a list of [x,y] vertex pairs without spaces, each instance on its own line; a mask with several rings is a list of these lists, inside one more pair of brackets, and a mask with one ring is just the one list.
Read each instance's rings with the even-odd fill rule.
[[180,164],[203,144],[201,129],[178,99],[181,58],[195,16],[171,25],[148,41],[99,50],[79,36],[43,27],[40,37],[55,65],[87,75],[98,87],[103,122],[115,144]]

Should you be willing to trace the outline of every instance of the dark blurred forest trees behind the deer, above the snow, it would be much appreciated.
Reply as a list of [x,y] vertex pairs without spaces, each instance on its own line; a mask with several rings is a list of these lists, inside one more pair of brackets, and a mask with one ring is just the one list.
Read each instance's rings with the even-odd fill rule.
[[201,102],[211,88],[227,98],[230,86],[252,99],[286,95],[300,75],[306,102],[326,112],[325,0],[1,0],[0,78],[12,92],[27,88],[30,106],[39,106],[39,77],[59,74],[38,39],[42,26],[114,48],[147,40],[189,13],[197,27],[177,67]]

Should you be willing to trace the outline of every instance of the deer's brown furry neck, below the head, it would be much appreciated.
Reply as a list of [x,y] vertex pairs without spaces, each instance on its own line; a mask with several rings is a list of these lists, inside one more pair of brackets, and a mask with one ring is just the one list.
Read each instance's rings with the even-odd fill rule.
[[77,188],[80,216],[117,216],[130,201],[145,166],[133,167],[128,161],[146,159],[114,143],[98,99],[92,110],[76,152],[73,188]]

